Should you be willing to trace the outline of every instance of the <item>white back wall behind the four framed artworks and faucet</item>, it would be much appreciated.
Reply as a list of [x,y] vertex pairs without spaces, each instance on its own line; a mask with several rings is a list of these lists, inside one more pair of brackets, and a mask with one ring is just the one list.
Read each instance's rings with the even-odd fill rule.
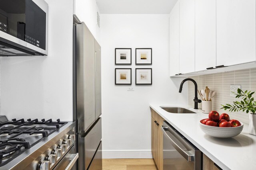
[[[150,103],[187,105],[183,78],[169,77],[169,15],[102,14],[102,145],[104,158],[150,158]],[[115,48],[132,48],[132,66],[114,64]],[[152,48],[152,65],[135,65],[135,48]],[[114,68],[132,68],[132,87],[114,85]],[[135,86],[135,68],[152,68],[152,85]]]

